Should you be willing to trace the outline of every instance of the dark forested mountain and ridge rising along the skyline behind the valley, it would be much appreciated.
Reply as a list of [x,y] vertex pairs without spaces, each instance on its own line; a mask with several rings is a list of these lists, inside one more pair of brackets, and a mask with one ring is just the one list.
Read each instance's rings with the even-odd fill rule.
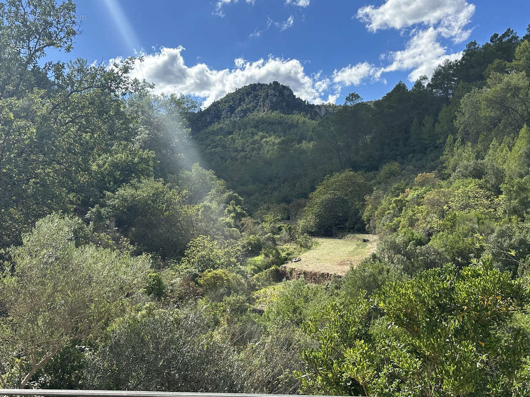
[[[252,210],[305,198],[343,169],[374,172],[398,161],[411,175],[431,171],[441,164],[447,138],[456,136],[463,96],[492,73],[505,72],[522,41],[510,29],[482,46],[472,41],[462,59],[440,65],[430,80],[421,77],[411,89],[399,82],[370,103],[354,93],[345,105],[317,113],[295,101],[288,87],[254,84],[188,119],[204,165]],[[269,104],[270,98],[276,101]]]

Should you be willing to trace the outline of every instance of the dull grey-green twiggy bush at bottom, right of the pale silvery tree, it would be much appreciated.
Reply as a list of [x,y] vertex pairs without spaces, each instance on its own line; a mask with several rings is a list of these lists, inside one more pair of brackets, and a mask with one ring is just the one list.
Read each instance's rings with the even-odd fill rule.
[[147,306],[114,323],[87,358],[87,386],[102,390],[242,391],[234,350],[209,337],[204,315]]

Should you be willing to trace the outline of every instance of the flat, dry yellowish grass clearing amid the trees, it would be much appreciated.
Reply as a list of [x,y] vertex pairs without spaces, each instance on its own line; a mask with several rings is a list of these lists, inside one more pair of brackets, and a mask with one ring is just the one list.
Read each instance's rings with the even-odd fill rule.
[[353,239],[315,238],[317,246],[304,252],[301,261],[289,263],[291,268],[312,272],[325,272],[345,275],[350,266],[372,254],[377,247],[378,237],[375,234],[350,234],[370,241],[361,242]]

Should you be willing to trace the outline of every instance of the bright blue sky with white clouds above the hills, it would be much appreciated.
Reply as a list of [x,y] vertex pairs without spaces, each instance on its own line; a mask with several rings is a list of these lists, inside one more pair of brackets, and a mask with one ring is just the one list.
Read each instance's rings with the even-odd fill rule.
[[[74,0],[75,1],[75,0]],[[278,80],[312,103],[352,91],[380,98],[399,81],[430,77],[471,40],[506,28],[525,34],[528,0],[77,0],[90,62],[142,53],[133,74],[158,93],[205,105],[254,82]]]

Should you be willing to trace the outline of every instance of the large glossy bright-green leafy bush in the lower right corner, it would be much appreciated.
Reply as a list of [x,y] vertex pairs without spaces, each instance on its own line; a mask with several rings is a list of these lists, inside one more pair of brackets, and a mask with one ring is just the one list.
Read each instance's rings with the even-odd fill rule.
[[514,321],[528,303],[525,281],[489,260],[361,291],[306,323],[317,347],[303,352],[301,392],[511,395],[528,379],[530,334]]

